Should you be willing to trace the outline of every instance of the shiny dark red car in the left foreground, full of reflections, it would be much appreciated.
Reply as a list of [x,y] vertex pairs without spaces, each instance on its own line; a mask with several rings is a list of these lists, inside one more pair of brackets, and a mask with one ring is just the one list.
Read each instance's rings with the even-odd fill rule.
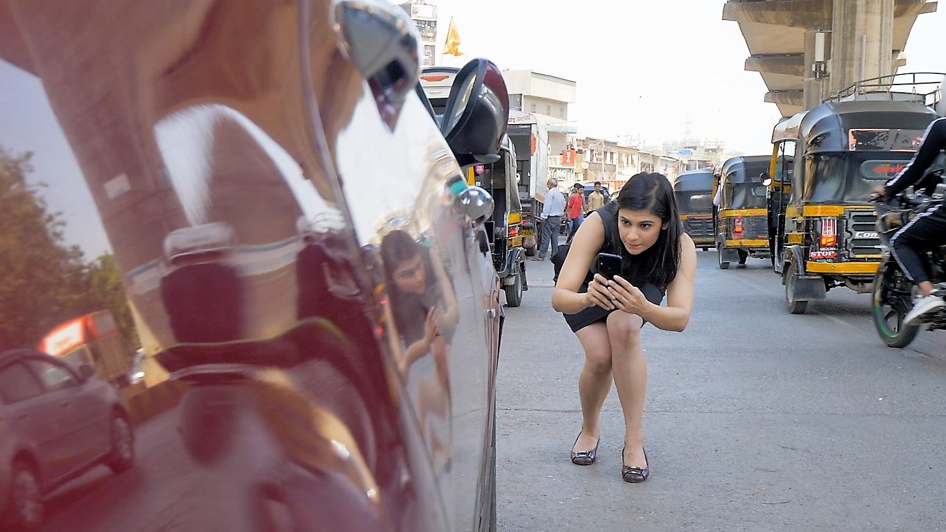
[[496,65],[435,116],[386,3],[6,0],[0,27],[31,220],[0,351],[105,300],[145,353],[134,472],[44,529],[494,530],[493,202],[462,168],[499,157]]

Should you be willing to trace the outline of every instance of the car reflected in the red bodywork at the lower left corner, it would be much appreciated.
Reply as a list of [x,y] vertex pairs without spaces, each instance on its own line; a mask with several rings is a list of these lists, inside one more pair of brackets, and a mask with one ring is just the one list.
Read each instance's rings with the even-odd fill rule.
[[15,530],[43,520],[43,497],[105,464],[134,460],[128,414],[108,383],[31,349],[0,354],[0,515]]

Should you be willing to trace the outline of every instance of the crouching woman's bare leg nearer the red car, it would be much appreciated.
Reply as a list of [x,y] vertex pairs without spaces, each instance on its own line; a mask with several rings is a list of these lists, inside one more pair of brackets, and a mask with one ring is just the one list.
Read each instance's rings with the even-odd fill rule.
[[607,392],[611,391],[611,343],[604,321],[592,323],[575,335],[585,349],[585,366],[578,378],[578,395],[582,403],[582,435],[572,451],[590,451],[598,444],[601,427],[598,420]]

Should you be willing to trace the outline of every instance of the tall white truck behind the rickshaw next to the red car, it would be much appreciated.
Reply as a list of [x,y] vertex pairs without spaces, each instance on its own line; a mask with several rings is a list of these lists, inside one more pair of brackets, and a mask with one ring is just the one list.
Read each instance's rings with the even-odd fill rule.
[[522,204],[522,247],[534,255],[538,245],[535,219],[545,203],[549,177],[549,130],[528,112],[509,112],[506,134],[516,147],[519,202]]

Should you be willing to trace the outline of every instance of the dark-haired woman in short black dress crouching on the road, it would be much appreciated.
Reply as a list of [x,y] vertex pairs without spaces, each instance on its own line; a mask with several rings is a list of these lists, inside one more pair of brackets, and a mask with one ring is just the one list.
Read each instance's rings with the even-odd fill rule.
[[[670,181],[660,174],[634,176],[616,201],[578,229],[552,293],[552,306],[565,314],[585,349],[578,382],[582,430],[571,461],[586,466],[595,461],[598,418],[613,371],[624,414],[627,482],[643,482],[650,473],[641,432],[647,360],[640,328],[649,321],[659,329],[683,331],[690,319],[696,251],[677,219]],[[605,279],[589,272],[601,252],[621,256],[620,275]],[[660,306],[664,292],[667,306]]]

